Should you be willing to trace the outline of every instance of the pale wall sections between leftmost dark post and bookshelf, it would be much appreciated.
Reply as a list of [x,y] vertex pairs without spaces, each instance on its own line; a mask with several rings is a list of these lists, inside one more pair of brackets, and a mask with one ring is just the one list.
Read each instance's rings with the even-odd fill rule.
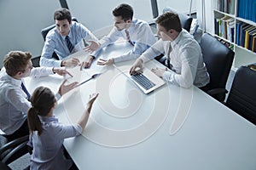
[[[177,8],[184,14],[189,14],[189,4],[191,0],[157,0],[159,14],[162,14],[163,8],[166,6]],[[106,3],[105,3],[106,2]],[[102,4],[101,4],[102,3]],[[112,10],[120,3],[129,3],[134,8],[134,17],[146,21],[153,20],[153,13],[150,0],[93,0],[93,1],[77,1],[67,0],[68,7],[72,10],[73,16],[79,18],[85,26],[91,31],[98,31],[105,26],[113,25]],[[192,1],[192,10],[195,12],[195,3]],[[99,7],[101,4],[101,7]],[[93,16],[93,17],[92,17]]]

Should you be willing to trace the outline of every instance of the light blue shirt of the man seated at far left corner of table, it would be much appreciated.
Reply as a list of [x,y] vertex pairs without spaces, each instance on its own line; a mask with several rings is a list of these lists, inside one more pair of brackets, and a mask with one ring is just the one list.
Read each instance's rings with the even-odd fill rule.
[[[74,46],[72,53],[70,53],[67,48],[65,36],[62,37],[56,28],[48,32],[45,37],[44,48],[40,58],[41,66],[61,66],[62,59],[84,48],[83,39],[85,41],[93,40],[98,42],[98,39],[85,26],[75,21],[72,22],[68,37]],[[60,60],[52,58],[54,52],[58,55]]]

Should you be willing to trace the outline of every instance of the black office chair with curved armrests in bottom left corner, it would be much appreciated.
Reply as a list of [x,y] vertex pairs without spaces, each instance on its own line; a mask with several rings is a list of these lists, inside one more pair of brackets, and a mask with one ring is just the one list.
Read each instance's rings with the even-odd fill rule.
[[27,142],[29,135],[14,139],[10,142],[0,135],[0,169],[10,169],[8,164],[28,153]]

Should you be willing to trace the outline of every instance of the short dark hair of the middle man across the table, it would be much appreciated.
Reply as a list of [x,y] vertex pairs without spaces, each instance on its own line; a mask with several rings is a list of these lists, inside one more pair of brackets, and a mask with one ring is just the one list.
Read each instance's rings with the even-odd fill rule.
[[123,20],[132,20],[133,17],[133,9],[130,5],[126,3],[120,4],[118,7],[114,8],[112,11],[113,16],[121,16]]

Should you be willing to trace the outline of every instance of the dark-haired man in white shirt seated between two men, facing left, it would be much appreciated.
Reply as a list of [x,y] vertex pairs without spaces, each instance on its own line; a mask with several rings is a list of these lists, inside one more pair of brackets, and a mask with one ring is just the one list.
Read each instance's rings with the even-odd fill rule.
[[[111,65],[119,61],[137,59],[146,49],[156,42],[156,38],[148,23],[133,18],[133,9],[129,4],[122,3],[114,8],[113,20],[113,29],[108,33],[108,36],[102,37],[99,41],[100,48],[97,52],[99,53],[100,49],[116,42],[120,37],[124,38],[133,48],[126,54],[108,60],[99,59],[97,62],[98,65]],[[94,49],[88,47],[87,50],[91,52]]]

